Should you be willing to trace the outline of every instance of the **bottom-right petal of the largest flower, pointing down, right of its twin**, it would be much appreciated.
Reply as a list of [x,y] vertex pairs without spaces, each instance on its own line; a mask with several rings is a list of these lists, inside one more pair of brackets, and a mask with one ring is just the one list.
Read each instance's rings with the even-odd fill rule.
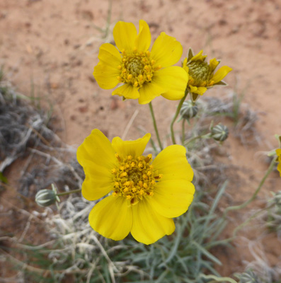
[[149,245],[175,231],[173,219],[164,217],[152,209],[149,200],[143,199],[132,206],[132,236],[140,243]]

